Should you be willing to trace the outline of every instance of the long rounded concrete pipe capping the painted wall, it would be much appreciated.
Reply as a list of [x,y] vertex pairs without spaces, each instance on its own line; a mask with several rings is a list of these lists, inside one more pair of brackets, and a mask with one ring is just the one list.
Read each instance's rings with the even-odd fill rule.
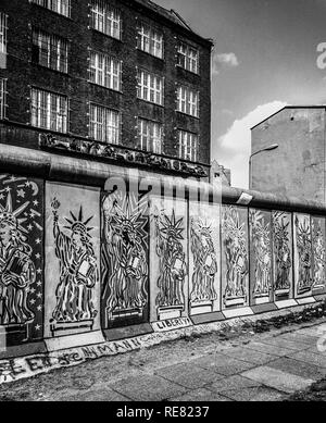
[[[165,189],[184,187],[188,192],[203,189],[211,197],[222,198],[226,204],[240,204],[261,209],[296,211],[310,214],[326,214],[326,206],[319,202],[268,192],[251,191],[197,182],[191,178],[173,177],[153,172],[138,171],[99,161],[84,160],[75,157],[53,154],[9,145],[0,145],[0,172],[16,173],[49,181],[71,184],[85,184],[104,188],[108,178],[146,179],[147,185],[160,185]],[[222,194],[222,195],[221,195]]]

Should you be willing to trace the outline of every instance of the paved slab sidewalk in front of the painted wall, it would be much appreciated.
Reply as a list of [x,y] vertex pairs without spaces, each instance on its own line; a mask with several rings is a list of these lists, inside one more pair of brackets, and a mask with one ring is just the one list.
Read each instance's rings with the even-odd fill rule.
[[321,326],[180,339],[0,387],[0,400],[275,401],[326,376]]

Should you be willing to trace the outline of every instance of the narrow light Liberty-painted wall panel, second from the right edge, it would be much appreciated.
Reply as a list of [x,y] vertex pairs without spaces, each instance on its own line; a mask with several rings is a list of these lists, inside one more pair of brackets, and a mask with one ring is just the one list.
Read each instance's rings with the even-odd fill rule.
[[296,295],[309,295],[312,289],[312,227],[309,215],[294,215]]

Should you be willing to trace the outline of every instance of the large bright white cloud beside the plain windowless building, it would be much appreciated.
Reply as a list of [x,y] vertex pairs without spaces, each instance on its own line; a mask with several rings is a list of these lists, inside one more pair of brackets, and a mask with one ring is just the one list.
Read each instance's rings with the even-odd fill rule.
[[287,103],[273,101],[258,105],[244,117],[236,120],[213,146],[213,159],[231,170],[233,186],[248,188],[251,127],[283,109]]

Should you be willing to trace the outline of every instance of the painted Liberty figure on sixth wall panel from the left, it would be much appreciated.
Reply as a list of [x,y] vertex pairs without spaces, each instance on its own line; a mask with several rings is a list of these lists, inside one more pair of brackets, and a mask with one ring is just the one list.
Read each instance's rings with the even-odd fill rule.
[[240,223],[239,212],[227,207],[223,216],[223,241],[226,259],[226,307],[247,302],[247,278],[249,273],[248,251],[246,248],[244,223]]

